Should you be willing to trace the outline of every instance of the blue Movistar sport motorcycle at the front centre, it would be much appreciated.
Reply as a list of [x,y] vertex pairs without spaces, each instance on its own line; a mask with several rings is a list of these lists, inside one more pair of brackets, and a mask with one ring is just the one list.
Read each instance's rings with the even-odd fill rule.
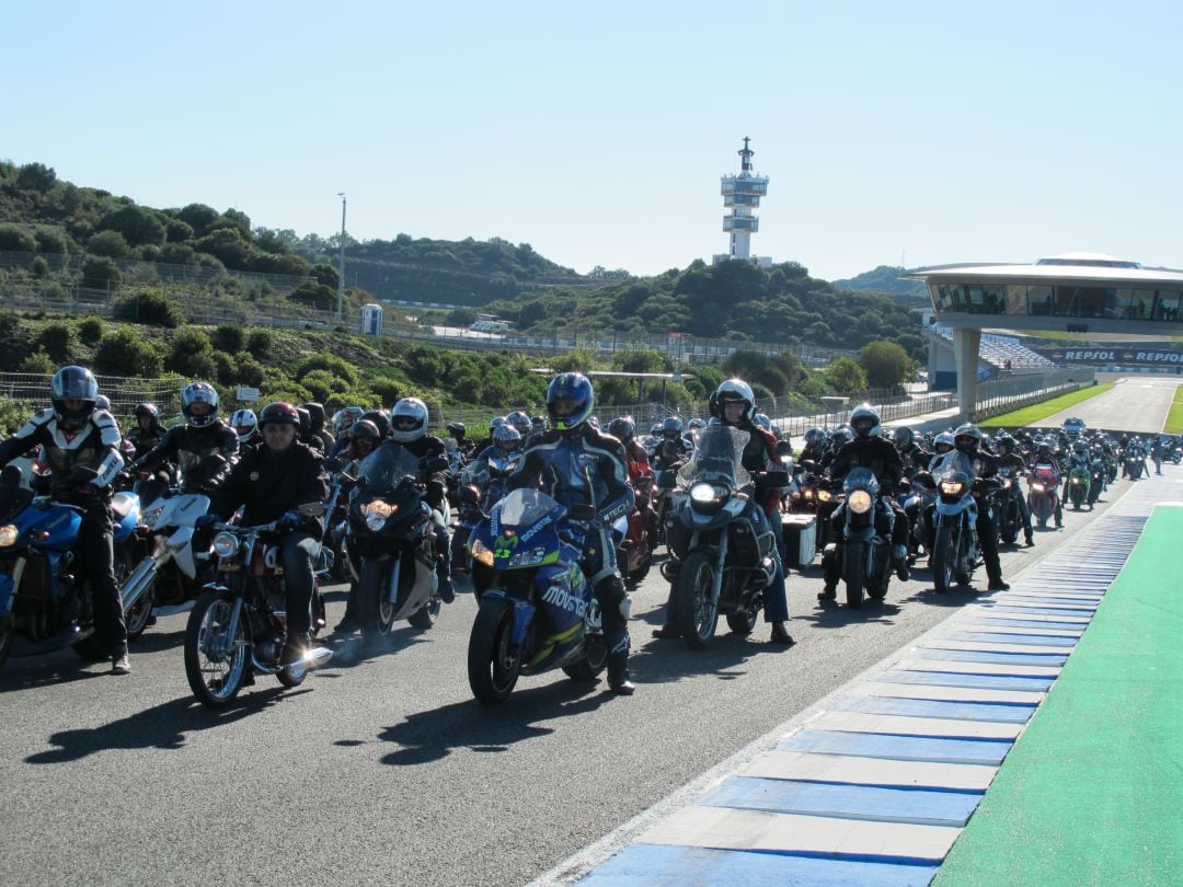
[[580,569],[580,522],[594,514],[594,506],[568,509],[541,491],[515,490],[473,530],[479,609],[468,635],[468,686],[481,704],[509,699],[522,674],[562,668],[592,681],[607,666],[600,607]]

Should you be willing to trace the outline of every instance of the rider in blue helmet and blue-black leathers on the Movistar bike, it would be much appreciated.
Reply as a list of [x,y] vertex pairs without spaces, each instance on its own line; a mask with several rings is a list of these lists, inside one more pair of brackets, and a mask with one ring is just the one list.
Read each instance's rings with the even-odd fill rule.
[[608,646],[608,687],[629,695],[636,689],[628,679],[629,602],[616,572],[616,549],[609,533],[612,524],[633,507],[633,491],[623,446],[588,423],[594,407],[595,393],[587,376],[555,376],[547,387],[550,430],[531,435],[506,490],[541,485],[568,507],[595,505],[597,516],[588,526],[581,566],[600,603]]

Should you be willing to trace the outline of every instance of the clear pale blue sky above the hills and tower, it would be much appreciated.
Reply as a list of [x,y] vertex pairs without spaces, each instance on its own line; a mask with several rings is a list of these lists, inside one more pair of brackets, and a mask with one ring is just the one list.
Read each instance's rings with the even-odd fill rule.
[[1088,250],[1183,267],[1179,2],[58,2],[4,13],[0,157],[149,206],[586,272]]

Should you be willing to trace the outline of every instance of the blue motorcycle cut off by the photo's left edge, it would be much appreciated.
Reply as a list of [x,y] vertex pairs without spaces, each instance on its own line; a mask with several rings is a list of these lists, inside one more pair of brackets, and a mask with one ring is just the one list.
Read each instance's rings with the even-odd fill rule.
[[[82,484],[95,471],[76,468]],[[116,493],[111,500],[115,578],[123,582],[134,563],[140,499]],[[86,564],[77,552],[83,509],[38,496],[21,486],[14,465],[0,471],[0,666],[9,655],[31,656],[71,646],[84,659],[110,650],[95,634]],[[128,640],[143,634],[151,602],[124,595]],[[20,645],[22,639],[27,643]]]

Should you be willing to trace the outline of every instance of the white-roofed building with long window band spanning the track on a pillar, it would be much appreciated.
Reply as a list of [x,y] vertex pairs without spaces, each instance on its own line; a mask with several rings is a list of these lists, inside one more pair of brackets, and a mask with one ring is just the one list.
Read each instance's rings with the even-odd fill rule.
[[[936,323],[929,334],[930,383],[957,388],[965,414],[977,382],[1001,371],[1037,371],[1052,364],[1013,336],[1027,330],[1183,335],[1183,271],[1148,268],[1099,253],[1065,253],[1033,265],[946,265],[906,274],[929,289]],[[951,349],[950,345],[951,344]]]

